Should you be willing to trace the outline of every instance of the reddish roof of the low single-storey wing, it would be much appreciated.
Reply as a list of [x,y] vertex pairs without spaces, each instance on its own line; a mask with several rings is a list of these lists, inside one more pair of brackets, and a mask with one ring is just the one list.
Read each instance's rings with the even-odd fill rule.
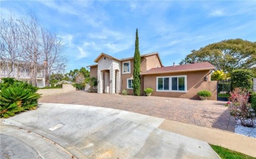
[[215,66],[209,62],[190,63],[186,65],[175,65],[175,66],[152,68],[146,72],[140,73],[140,75],[202,71],[202,70],[210,70],[210,69],[215,69]]

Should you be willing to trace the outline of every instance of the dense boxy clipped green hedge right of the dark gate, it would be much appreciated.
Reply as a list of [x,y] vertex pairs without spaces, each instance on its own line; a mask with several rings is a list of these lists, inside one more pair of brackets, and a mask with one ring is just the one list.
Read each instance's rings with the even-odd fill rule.
[[232,88],[245,88],[250,90],[253,87],[253,73],[249,69],[235,69],[231,72]]

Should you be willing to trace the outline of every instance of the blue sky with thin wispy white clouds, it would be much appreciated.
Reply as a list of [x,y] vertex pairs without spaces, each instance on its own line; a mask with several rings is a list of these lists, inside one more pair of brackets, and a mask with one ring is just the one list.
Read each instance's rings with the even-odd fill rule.
[[67,71],[104,52],[130,58],[158,52],[164,66],[225,39],[256,41],[256,1],[0,1],[1,16],[26,16],[61,37]]

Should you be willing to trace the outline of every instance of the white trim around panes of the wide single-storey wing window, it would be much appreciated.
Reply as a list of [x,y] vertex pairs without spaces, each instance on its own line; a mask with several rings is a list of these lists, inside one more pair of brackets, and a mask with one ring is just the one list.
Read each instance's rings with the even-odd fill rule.
[[[178,86],[179,86],[179,77],[184,77],[184,85],[185,85],[185,89],[184,90],[171,90],[171,78],[172,77],[177,77],[178,78]],[[158,90],[158,79],[159,78],[169,78],[169,90]],[[187,90],[187,84],[188,84],[188,80],[187,80],[187,75],[177,75],[177,76],[161,76],[161,77],[156,77],[156,92],[177,92],[177,93],[184,93],[184,92],[188,92]]]

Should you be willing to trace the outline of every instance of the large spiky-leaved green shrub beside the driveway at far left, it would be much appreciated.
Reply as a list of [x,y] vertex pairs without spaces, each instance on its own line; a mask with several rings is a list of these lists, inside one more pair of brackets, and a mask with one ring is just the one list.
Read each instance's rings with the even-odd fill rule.
[[15,113],[32,110],[37,107],[40,95],[37,88],[18,80],[3,80],[0,92],[0,117],[8,118]]

